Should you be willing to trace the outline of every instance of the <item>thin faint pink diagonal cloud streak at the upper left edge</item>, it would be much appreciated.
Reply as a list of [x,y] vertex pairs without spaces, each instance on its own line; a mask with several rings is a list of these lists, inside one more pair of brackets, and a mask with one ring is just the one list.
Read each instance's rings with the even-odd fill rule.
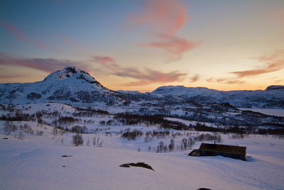
[[5,28],[7,31],[9,31],[9,33],[11,33],[11,35],[15,36],[18,40],[21,40],[24,43],[28,43],[28,44],[34,45],[35,47],[40,47],[41,49],[50,50],[50,51],[53,51],[53,52],[61,51],[58,48],[50,47],[49,45],[45,45],[43,43],[38,43],[38,42],[35,42],[34,40],[27,38],[26,35],[23,35],[23,33],[21,33],[21,31],[18,30],[18,28],[11,25],[10,23],[0,21],[0,26]]

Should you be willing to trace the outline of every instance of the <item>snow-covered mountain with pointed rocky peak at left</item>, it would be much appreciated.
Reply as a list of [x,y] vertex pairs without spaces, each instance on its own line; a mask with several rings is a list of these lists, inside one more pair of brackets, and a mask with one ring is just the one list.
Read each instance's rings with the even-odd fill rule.
[[107,101],[117,94],[77,67],[51,73],[42,82],[0,84],[0,104]]

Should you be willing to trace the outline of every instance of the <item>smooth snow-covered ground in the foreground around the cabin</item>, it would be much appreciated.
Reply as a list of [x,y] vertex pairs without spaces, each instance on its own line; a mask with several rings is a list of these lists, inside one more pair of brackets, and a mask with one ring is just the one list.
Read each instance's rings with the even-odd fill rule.
[[[253,135],[240,140],[222,135],[223,144],[247,147],[251,162],[244,162],[225,157],[189,157],[191,150],[148,152],[149,145],[158,146],[162,140],[167,144],[170,138],[145,143],[143,138],[129,141],[104,131],[83,134],[84,146],[75,147],[70,143],[72,133],[53,135],[48,125],[13,123],[27,123],[33,130],[42,130],[43,135],[23,133],[24,139],[19,140],[21,130],[4,135],[4,121],[0,121],[1,189],[284,189],[284,140],[273,136]],[[139,125],[111,126],[111,130],[129,127],[156,129]],[[103,140],[103,147],[92,145],[94,136]],[[175,143],[183,137],[175,138]],[[129,162],[145,162],[155,171],[119,167]]]

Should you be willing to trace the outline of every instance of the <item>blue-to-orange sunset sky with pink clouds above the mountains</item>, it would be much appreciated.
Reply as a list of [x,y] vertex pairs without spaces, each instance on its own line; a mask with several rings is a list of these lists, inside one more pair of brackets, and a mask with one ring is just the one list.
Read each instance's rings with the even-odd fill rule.
[[284,1],[0,0],[0,83],[67,66],[112,90],[284,85]]

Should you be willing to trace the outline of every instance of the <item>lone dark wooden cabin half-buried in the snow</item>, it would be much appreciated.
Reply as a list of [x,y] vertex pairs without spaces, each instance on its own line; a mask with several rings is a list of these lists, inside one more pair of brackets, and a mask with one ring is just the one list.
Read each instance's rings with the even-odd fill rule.
[[246,161],[246,147],[202,143],[200,149],[192,150],[189,156],[222,156]]

